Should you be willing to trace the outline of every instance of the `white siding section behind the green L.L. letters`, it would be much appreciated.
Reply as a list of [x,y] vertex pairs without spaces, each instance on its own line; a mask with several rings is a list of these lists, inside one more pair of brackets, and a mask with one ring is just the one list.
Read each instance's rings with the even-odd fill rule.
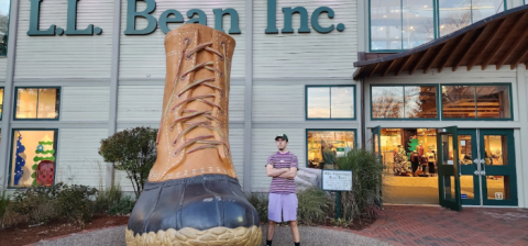
[[[102,29],[94,36],[28,36],[30,1],[20,1],[15,79],[110,78],[112,1],[82,0],[77,5],[77,26]],[[67,1],[41,2],[40,29],[51,24],[66,30]]]

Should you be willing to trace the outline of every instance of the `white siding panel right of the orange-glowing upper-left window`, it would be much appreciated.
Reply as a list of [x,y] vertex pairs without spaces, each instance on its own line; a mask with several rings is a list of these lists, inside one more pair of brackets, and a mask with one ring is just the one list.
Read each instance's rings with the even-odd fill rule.
[[63,121],[108,121],[110,88],[63,87],[61,104]]

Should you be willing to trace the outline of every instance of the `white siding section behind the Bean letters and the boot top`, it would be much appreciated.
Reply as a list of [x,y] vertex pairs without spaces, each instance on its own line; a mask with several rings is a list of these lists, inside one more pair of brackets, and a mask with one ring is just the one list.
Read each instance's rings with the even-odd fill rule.
[[[122,19],[121,30],[127,29],[127,5],[128,1],[122,0]],[[138,10],[144,10],[145,2],[138,1]],[[156,20],[167,9],[175,9],[184,15],[187,21],[187,11],[190,9],[200,9],[207,14],[207,25],[215,27],[215,15],[212,9],[233,8],[239,13],[239,26],[242,34],[233,34],[237,41],[234,49],[233,63],[231,68],[231,78],[243,77],[245,69],[245,0],[221,0],[221,1],[174,1],[174,0],[156,0],[156,11],[152,13]],[[231,19],[224,16],[223,30],[229,31]],[[136,21],[136,30],[141,30],[147,25],[145,19],[139,18]],[[169,29],[176,29],[182,24],[169,24]],[[121,33],[121,64],[120,78],[165,78],[165,34],[157,29],[148,35],[124,35]]]

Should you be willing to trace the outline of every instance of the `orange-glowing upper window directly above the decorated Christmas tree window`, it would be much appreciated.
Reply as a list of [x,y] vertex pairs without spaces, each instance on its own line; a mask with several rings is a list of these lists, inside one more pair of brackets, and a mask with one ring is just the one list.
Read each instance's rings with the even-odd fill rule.
[[16,88],[15,120],[58,120],[58,88]]

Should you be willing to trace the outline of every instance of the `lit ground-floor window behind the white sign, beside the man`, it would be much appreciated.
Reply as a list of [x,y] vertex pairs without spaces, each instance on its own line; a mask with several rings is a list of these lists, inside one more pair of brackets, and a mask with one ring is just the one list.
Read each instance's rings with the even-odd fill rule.
[[307,130],[308,167],[323,168],[355,146],[355,130]]

